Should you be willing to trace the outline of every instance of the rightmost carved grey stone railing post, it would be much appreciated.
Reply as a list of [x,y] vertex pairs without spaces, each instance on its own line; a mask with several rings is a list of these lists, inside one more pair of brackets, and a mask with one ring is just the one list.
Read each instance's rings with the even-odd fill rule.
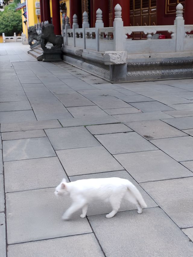
[[183,52],[185,30],[182,4],[178,4],[176,6],[176,19],[174,21],[174,25],[176,25],[176,52]]

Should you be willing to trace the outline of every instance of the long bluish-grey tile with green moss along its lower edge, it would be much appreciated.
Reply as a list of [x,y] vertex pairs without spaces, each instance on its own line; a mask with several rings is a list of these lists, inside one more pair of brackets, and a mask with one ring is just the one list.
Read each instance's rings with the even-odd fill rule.
[[97,124],[109,124],[118,123],[115,118],[111,116],[105,117],[82,117],[82,118],[71,118],[71,119],[59,119],[59,122],[63,127],[74,127],[74,126],[85,126],[85,125],[97,125]]

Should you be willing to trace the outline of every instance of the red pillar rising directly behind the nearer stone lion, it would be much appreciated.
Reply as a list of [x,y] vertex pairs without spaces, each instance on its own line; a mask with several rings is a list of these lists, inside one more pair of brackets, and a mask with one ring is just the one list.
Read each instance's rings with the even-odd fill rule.
[[52,0],[52,24],[54,25],[54,34],[61,35],[59,0]]

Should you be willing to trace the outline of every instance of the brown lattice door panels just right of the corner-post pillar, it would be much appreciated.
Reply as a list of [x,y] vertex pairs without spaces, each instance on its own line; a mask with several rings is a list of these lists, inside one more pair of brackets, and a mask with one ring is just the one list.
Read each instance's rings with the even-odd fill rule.
[[[150,26],[156,25],[157,0],[130,0],[130,25]],[[133,39],[146,39],[143,33],[133,33]]]

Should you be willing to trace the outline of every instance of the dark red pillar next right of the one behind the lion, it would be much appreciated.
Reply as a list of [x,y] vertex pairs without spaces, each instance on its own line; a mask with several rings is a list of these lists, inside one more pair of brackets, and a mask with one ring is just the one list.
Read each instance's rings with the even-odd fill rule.
[[82,27],[82,7],[80,0],[70,0],[70,26],[72,28],[73,15],[76,14],[78,17],[79,28]]

